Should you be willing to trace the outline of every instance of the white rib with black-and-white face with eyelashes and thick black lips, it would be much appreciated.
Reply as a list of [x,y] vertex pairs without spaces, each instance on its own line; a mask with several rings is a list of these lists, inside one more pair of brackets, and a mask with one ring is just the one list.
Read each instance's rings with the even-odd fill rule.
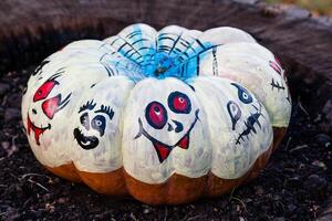
[[77,102],[71,152],[80,171],[105,172],[122,166],[121,113],[133,86],[127,77],[113,76],[92,85]]

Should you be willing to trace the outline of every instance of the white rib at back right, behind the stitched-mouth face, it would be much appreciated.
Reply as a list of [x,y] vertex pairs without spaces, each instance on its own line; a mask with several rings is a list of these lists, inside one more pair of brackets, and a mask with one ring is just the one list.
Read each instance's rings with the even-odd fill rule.
[[[270,62],[277,64],[273,54],[261,45],[232,43],[218,46],[215,56],[207,55],[200,63],[200,73],[227,77],[245,85],[266,105],[272,125],[287,127],[291,115],[289,90],[283,70],[279,74]],[[276,87],[278,85],[280,88]]]

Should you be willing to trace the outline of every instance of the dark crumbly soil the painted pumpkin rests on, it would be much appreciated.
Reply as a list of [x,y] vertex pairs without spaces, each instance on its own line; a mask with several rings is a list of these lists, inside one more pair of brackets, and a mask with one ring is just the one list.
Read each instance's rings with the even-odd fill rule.
[[0,220],[313,220],[331,199],[331,137],[299,101],[264,171],[217,199],[152,207],[60,179],[37,161],[21,122],[21,94],[33,69],[0,77]]

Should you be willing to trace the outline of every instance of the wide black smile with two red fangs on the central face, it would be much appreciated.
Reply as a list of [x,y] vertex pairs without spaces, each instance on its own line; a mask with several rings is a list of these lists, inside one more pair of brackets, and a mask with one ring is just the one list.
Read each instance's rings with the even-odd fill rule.
[[144,128],[141,118],[138,118],[138,124],[139,124],[139,131],[135,136],[134,139],[137,139],[141,137],[141,135],[144,135],[147,139],[149,139],[158,155],[159,162],[162,164],[167,157],[169,156],[170,151],[173,150],[174,147],[180,147],[183,149],[188,149],[189,147],[189,140],[190,140],[190,131],[194,128],[196,122],[199,119],[198,118],[198,113],[199,109],[196,109],[195,112],[195,120],[191,123],[188,131],[175,144],[175,145],[166,145],[154,137],[152,137]]

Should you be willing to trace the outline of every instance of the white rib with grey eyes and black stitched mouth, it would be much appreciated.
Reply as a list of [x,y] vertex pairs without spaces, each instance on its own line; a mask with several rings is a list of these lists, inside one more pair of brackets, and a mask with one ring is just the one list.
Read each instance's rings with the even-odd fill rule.
[[[207,117],[212,145],[211,172],[224,179],[243,176],[273,139],[264,106],[248,91],[242,96],[250,96],[252,101],[243,103],[239,90],[232,84],[238,83],[217,76],[197,77],[191,84]],[[228,107],[232,108],[234,115],[238,114],[235,124]]]

